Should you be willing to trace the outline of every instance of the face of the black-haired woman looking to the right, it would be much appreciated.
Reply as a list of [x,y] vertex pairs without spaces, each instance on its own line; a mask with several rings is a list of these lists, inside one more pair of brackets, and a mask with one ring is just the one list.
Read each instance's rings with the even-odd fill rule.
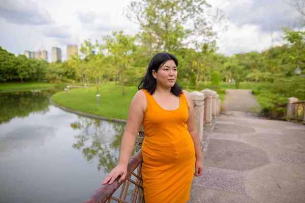
[[166,61],[158,70],[158,72],[153,70],[153,76],[157,80],[157,84],[164,87],[174,86],[177,75],[177,66],[174,60]]

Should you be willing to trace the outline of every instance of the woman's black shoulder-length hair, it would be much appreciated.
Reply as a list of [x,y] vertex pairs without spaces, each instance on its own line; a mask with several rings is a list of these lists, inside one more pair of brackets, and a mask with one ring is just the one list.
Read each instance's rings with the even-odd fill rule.
[[[151,95],[155,93],[157,81],[153,76],[153,70],[156,71],[156,73],[159,71],[159,69],[162,67],[162,65],[168,61],[173,60],[175,61],[176,66],[178,67],[178,60],[177,58],[170,54],[170,53],[158,53],[156,54],[149,62],[147,67],[147,72],[145,76],[142,78],[142,80],[139,83],[138,90],[140,89],[146,89],[149,91]],[[182,93],[181,87],[175,82],[174,86],[172,86],[170,90],[174,95],[179,96]]]

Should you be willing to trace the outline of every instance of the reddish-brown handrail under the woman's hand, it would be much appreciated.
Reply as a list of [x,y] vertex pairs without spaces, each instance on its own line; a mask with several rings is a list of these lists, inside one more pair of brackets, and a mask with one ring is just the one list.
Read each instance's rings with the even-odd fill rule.
[[114,182],[109,185],[108,183],[106,185],[102,185],[90,198],[88,198],[85,203],[104,203],[109,198],[111,198],[112,194],[120,187],[121,184],[125,183],[128,177],[130,177],[133,172],[136,170],[136,168],[140,165],[142,162],[142,150],[139,150],[130,160],[127,166],[127,175],[124,181],[121,181],[118,183],[118,180],[120,178],[117,177]]

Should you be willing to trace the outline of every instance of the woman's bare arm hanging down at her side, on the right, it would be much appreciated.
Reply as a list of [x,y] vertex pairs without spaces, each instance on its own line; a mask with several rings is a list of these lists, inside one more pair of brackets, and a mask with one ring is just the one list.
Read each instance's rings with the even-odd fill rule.
[[191,94],[186,91],[182,90],[188,100],[189,103],[189,118],[187,120],[188,124],[188,131],[191,134],[191,137],[194,142],[195,147],[195,155],[196,155],[196,172],[195,176],[201,176],[203,171],[203,164],[202,164],[202,152],[200,147],[200,141],[199,141],[199,135],[195,124],[195,116],[194,116],[194,105],[193,105],[193,99],[191,97]]

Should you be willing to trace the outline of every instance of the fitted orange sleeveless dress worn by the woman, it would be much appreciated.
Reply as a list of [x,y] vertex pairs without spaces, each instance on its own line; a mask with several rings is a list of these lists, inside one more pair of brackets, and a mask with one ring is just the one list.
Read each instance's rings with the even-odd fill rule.
[[146,203],[185,203],[190,198],[195,148],[188,131],[188,101],[182,93],[179,108],[163,109],[144,90],[147,108],[143,128],[142,176]]

